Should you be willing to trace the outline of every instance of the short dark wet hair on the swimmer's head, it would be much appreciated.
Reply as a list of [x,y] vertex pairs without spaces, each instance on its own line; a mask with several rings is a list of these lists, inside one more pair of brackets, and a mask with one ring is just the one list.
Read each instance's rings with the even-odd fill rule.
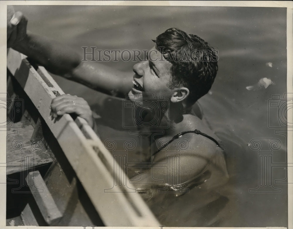
[[217,50],[197,35],[170,28],[154,40],[157,49],[172,63],[171,88],[186,87],[188,105],[211,89],[218,71]]

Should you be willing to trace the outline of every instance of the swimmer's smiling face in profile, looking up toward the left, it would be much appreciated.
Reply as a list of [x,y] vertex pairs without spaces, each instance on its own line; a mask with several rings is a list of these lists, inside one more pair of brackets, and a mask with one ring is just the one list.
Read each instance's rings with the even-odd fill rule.
[[133,87],[128,93],[130,99],[150,98],[149,94],[155,98],[164,96],[170,99],[173,90],[169,88],[172,80],[172,64],[167,61],[154,46],[148,51],[147,61],[142,61],[133,66],[135,75],[133,76]]

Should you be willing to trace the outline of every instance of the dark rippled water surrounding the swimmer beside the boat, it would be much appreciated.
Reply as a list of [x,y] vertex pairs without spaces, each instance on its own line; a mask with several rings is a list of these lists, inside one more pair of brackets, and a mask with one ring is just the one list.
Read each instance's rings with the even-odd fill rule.
[[[205,118],[222,140],[227,153],[230,182],[226,190],[228,204],[222,221],[216,226],[287,226],[287,185],[273,184],[281,193],[249,193],[258,187],[258,151],[251,139],[279,139],[273,150],[273,162],[286,161],[286,136],[268,127],[268,109],[272,95],[286,92],[286,8],[249,7],[136,7],[136,6],[17,6],[28,18],[28,29],[64,42],[77,52],[82,46],[98,49],[149,49],[151,39],[168,28],[178,27],[199,35],[219,50],[219,71],[209,94],[199,100]],[[271,62],[272,67],[266,65]],[[105,63],[131,71],[132,61]],[[132,73],[130,73],[132,74]],[[247,90],[260,78],[274,84],[262,90]],[[93,109],[101,109],[107,98],[73,82],[54,77],[65,93],[84,97]],[[105,113],[115,107],[103,107]],[[97,112],[99,112],[97,110]],[[101,138],[122,132],[101,128]],[[285,132],[282,132],[285,133]],[[264,140],[268,144],[270,140]],[[267,150],[268,151],[268,150]],[[273,181],[286,177],[284,168],[272,170]],[[268,190],[268,189],[265,189]],[[185,197],[187,198],[187,197]],[[195,197],[192,197],[195,198]],[[184,202],[182,218],[199,217]],[[194,201],[194,199],[193,199]],[[199,200],[200,201],[200,200]],[[208,213],[206,213],[208,214]],[[181,225],[186,224],[182,222]],[[199,225],[192,225],[199,226]]]

